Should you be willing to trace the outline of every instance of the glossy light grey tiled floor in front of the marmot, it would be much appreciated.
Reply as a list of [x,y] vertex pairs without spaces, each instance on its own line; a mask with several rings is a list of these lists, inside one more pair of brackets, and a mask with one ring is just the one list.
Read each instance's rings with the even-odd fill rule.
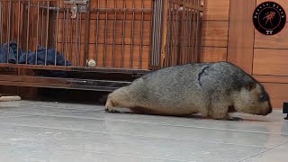
[[215,121],[113,114],[103,106],[0,103],[0,161],[287,161],[288,121],[275,111]]

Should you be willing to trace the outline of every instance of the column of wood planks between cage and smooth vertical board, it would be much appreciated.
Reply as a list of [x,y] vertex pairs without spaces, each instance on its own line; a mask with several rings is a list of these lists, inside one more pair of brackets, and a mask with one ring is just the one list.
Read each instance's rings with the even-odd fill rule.
[[205,0],[202,61],[226,60],[229,28],[229,0]]

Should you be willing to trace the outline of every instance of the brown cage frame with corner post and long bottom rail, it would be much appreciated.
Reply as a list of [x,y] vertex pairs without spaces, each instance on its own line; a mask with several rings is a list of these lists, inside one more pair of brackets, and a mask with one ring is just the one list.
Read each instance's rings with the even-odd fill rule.
[[[32,0],[24,0],[25,2],[31,2]],[[35,0],[34,0],[35,1]],[[59,2],[63,0],[41,0],[41,1],[49,1],[49,2]],[[125,0],[126,1],[126,0]],[[46,65],[23,65],[23,64],[11,64],[11,63],[1,63],[0,68],[4,72],[0,75],[0,85],[16,85],[16,86],[33,86],[33,87],[50,87],[50,88],[67,88],[67,89],[82,89],[82,90],[95,90],[95,91],[113,91],[116,88],[119,88],[123,85],[129,85],[130,82],[139,77],[142,76],[150,71],[157,70],[159,68],[163,67],[171,67],[172,65],[168,63],[167,59],[167,41],[169,41],[169,35],[168,35],[168,19],[169,19],[169,12],[171,12],[170,7],[172,5],[177,5],[178,10],[180,7],[182,7],[182,10],[185,10],[185,8],[189,8],[190,10],[195,10],[196,13],[202,14],[202,20],[200,20],[198,23],[199,31],[196,33],[198,34],[196,40],[198,40],[197,48],[195,49],[196,58],[193,59],[193,62],[200,62],[201,60],[201,54],[202,54],[202,23],[203,23],[203,13],[204,13],[204,0],[151,0],[153,2],[153,6],[150,9],[151,12],[151,32],[150,32],[150,53],[149,53],[149,60],[148,69],[132,69],[132,68],[119,68],[119,67],[61,67],[61,66],[46,66]],[[195,4],[191,4],[191,2],[195,2]],[[2,2],[20,2],[19,0],[3,0]],[[37,1],[36,1],[37,2]],[[81,0],[73,1],[73,0],[67,0],[66,2],[84,2]],[[87,1],[90,2],[90,1]],[[190,3],[189,3],[190,2]],[[196,6],[197,4],[197,6]],[[156,8],[155,6],[160,5],[161,7]],[[85,5],[87,8],[86,14],[85,14],[85,47],[84,47],[84,53],[85,58],[86,55],[89,53],[88,48],[88,40],[89,40],[89,30],[90,30],[90,14],[92,12],[92,9],[90,8],[89,4]],[[135,11],[136,8],[133,8]],[[158,9],[158,10],[157,10]],[[173,8],[174,9],[174,8]],[[99,10],[99,8],[98,8]],[[112,12],[116,12],[116,10],[119,10],[117,8],[114,9],[107,9],[111,10]],[[144,8],[141,10],[144,11]],[[162,12],[160,12],[162,11]],[[146,11],[148,12],[148,10]],[[161,15],[159,15],[161,13]],[[155,15],[157,14],[157,19]],[[182,12],[182,20],[186,16],[184,12]],[[197,15],[197,21],[198,21],[199,15]],[[180,22],[180,20],[178,20]],[[157,22],[157,25],[155,23]],[[177,22],[177,20],[176,20]],[[183,21],[181,21],[183,23]],[[153,26],[154,25],[154,26]],[[183,24],[181,25],[182,29]],[[157,29],[156,29],[157,28]],[[182,31],[179,30],[178,31]],[[182,33],[179,32],[179,34],[182,36]],[[154,41],[154,42],[153,42]],[[179,53],[183,53],[183,50],[181,46],[183,46],[183,42],[180,41]],[[153,43],[155,44],[153,46]],[[156,46],[159,45],[159,46]],[[195,45],[196,47],[196,45]],[[187,52],[187,51],[185,51]],[[181,60],[178,59],[176,65],[181,65]],[[191,63],[191,62],[190,62]],[[184,63],[183,63],[184,64]],[[71,73],[94,73],[99,74],[98,78],[81,78],[79,76],[76,76],[76,78],[66,78],[66,77],[48,77],[48,76],[35,76],[35,73],[33,73],[33,70],[61,70],[65,72],[71,72]],[[118,74],[121,74],[119,76]],[[121,79],[121,77],[124,77],[125,79]],[[82,75],[80,75],[82,76]],[[108,76],[108,79],[106,77]],[[120,78],[119,78],[120,77]],[[127,77],[129,77],[127,79]]]

